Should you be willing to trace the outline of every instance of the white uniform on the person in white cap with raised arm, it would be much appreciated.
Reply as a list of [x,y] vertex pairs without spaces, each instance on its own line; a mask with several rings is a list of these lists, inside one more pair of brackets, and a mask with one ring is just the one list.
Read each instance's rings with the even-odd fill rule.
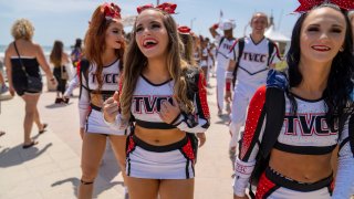
[[222,113],[223,101],[225,101],[225,97],[223,97],[225,77],[226,77],[225,72],[226,72],[227,67],[229,66],[228,54],[229,54],[236,39],[235,38],[227,39],[227,38],[220,36],[218,34],[215,36],[215,40],[219,44],[218,50],[216,52],[217,103],[218,103],[219,112]]

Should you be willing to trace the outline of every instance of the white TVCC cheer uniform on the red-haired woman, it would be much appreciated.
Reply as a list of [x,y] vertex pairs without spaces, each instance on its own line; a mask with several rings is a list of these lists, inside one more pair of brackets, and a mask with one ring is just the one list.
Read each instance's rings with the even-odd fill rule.
[[103,66],[103,85],[100,91],[95,71],[96,64],[91,64],[88,70],[82,74],[81,96],[79,100],[80,127],[85,132],[104,135],[126,135],[127,130],[112,129],[103,118],[102,105],[118,90],[119,60]]

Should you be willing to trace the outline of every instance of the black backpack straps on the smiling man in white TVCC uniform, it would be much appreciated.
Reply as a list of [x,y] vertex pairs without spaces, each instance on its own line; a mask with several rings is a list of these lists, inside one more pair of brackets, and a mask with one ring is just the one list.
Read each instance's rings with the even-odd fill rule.
[[[269,66],[270,62],[271,62],[271,54],[273,54],[274,52],[274,49],[277,48],[277,44],[275,42],[273,42],[272,40],[266,38],[269,42],[268,42],[268,61],[267,61],[267,66]],[[236,40],[231,46],[231,50],[230,52],[235,49],[236,44],[239,44],[239,54],[238,54],[238,57],[237,57],[237,63],[236,63],[236,66],[233,69],[233,72],[232,72],[232,75],[233,75],[233,78],[232,78],[232,85],[235,85],[235,82],[236,82],[236,75],[237,75],[237,69],[239,66],[239,63],[240,63],[240,60],[241,60],[241,56],[242,56],[242,53],[243,53],[243,49],[244,49],[244,38],[240,38],[238,40]],[[277,51],[278,52],[278,51]],[[278,55],[278,54],[277,54]],[[279,56],[279,55],[278,55]]]

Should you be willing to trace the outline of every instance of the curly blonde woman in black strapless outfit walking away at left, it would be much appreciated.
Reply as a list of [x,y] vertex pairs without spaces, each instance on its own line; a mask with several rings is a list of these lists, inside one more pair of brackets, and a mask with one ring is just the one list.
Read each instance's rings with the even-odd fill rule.
[[14,39],[6,51],[4,63],[9,81],[9,91],[14,92],[24,101],[24,142],[22,148],[29,148],[37,145],[38,142],[31,138],[33,122],[37,124],[39,133],[45,130],[46,124],[40,119],[37,108],[41,91],[33,92],[28,85],[28,76],[42,80],[40,67],[44,71],[48,81],[55,85],[55,78],[45,60],[42,48],[32,41],[34,28],[27,19],[17,20],[11,29]]

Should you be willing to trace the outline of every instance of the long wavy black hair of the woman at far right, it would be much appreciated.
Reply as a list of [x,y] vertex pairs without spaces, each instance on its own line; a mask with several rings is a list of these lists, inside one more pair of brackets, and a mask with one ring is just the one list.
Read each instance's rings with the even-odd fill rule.
[[[351,101],[351,92],[354,88],[353,77],[354,77],[354,59],[352,55],[353,50],[353,39],[352,29],[345,11],[342,11],[335,4],[323,3],[314,9],[319,8],[331,8],[341,12],[345,19],[346,32],[344,39],[344,51],[339,52],[331,65],[331,72],[327,80],[326,88],[323,92],[324,102],[327,107],[325,114],[326,122],[332,130],[341,129],[344,125],[347,116],[353,113],[354,104]],[[311,11],[310,11],[311,12]],[[289,65],[289,85],[290,87],[298,86],[303,77],[299,69],[300,62],[300,35],[301,29],[304,20],[309,15],[308,13],[302,14],[292,31],[291,45],[287,55],[287,62]],[[289,94],[289,93],[288,93]],[[289,94],[291,95],[291,94]],[[293,112],[296,112],[296,103],[291,97]]]

